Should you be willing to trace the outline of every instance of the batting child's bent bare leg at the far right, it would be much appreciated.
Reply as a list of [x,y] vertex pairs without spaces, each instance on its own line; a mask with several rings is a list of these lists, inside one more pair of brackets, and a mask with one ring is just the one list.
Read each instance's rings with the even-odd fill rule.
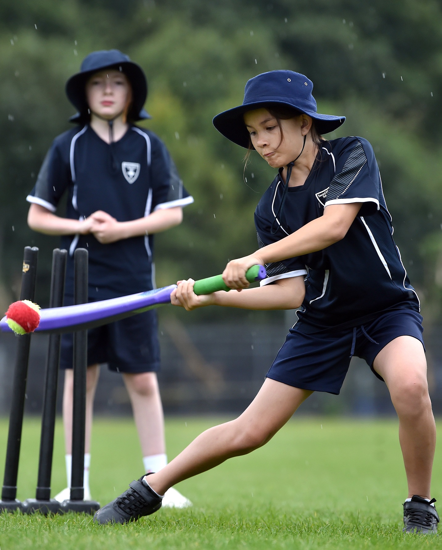
[[430,497],[436,427],[428,395],[427,362],[421,342],[395,338],[379,352],[373,367],[385,380],[397,416],[408,498]]

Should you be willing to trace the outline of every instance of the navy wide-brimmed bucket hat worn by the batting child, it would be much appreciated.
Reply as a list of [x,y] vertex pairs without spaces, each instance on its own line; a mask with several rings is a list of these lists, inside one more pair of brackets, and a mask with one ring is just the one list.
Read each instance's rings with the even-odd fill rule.
[[248,80],[242,105],[217,114],[213,125],[227,139],[248,149],[250,134],[244,124],[244,113],[260,107],[285,105],[312,117],[318,134],[328,134],[344,124],[345,117],[318,113],[312,90],[313,83],[307,76],[291,70],[258,74]]

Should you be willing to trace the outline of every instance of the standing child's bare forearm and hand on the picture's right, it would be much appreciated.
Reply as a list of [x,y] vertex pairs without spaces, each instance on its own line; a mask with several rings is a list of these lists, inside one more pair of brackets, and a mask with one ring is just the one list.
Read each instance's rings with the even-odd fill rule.
[[101,210],[94,212],[91,218],[95,222],[91,233],[100,243],[107,244],[130,237],[159,233],[178,226],[183,221],[183,208],[175,206],[156,210],[144,218],[131,219],[129,222],[118,222]]

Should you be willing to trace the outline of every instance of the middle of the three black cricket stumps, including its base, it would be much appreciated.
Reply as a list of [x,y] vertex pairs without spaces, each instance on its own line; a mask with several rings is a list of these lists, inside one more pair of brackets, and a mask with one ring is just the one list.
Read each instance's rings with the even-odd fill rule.
[[[63,305],[64,281],[66,274],[66,250],[54,249],[52,252],[51,295],[49,307]],[[51,499],[52,455],[54,449],[54,430],[57,409],[58,370],[60,366],[61,334],[50,334],[46,362],[45,392],[43,395],[43,414],[41,419],[40,458],[38,460],[38,481],[35,498],[23,502],[23,511],[32,514],[63,513],[61,503]]]

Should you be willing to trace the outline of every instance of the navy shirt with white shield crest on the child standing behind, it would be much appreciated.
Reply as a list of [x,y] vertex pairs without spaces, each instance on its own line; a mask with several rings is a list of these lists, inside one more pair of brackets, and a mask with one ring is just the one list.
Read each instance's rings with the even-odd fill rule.
[[[123,138],[104,142],[89,125],[59,135],[43,161],[27,201],[55,212],[67,191],[66,217],[84,219],[97,210],[126,222],[155,210],[194,202],[163,142],[131,125]],[[67,235],[66,294],[73,294],[75,248],[89,251],[89,294],[107,299],[151,290],[153,235],[101,244],[92,234]]]

